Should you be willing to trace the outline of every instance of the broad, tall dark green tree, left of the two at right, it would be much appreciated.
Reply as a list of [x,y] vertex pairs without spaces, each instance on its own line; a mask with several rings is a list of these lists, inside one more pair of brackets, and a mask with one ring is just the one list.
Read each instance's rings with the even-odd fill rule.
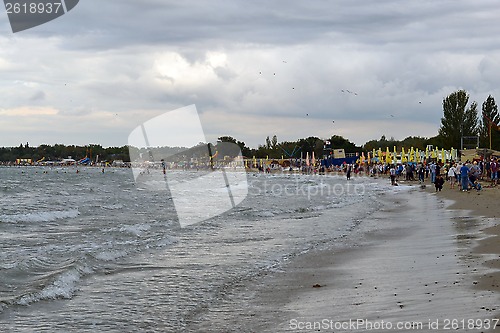
[[469,107],[469,94],[458,90],[443,99],[443,117],[439,136],[443,138],[443,148],[460,148],[464,136],[476,136],[479,132],[477,103]]

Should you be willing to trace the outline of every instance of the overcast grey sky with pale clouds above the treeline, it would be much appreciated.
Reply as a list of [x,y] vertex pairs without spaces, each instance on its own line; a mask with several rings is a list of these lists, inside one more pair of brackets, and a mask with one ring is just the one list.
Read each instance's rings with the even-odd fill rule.
[[18,33],[2,10],[0,146],[122,146],[193,104],[207,141],[361,145],[436,135],[458,89],[500,99],[493,0],[81,0]]

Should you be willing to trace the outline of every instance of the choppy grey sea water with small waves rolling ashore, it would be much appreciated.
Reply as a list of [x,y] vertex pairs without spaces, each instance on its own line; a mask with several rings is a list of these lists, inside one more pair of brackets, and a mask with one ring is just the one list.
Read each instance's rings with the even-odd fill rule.
[[1,331],[189,331],[234,287],[351,246],[384,193],[408,192],[370,177],[249,173],[243,202],[183,228],[170,193],[138,186],[130,169],[76,170],[0,168]]

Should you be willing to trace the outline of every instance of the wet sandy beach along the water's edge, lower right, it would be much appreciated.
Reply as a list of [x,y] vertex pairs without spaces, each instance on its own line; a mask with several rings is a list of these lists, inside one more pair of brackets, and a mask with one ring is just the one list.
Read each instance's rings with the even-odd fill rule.
[[[498,275],[484,253],[499,246],[498,238],[482,239],[498,229],[486,230],[492,219],[453,209],[453,195],[429,186],[382,194],[385,208],[367,217],[356,241],[306,253],[228,291],[210,309],[219,323],[213,332],[492,330],[500,299],[488,285],[500,280],[492,280]],[[476,199],[483,194],[456,195],[456,205],[461,198],[468,208],[486,204]]]

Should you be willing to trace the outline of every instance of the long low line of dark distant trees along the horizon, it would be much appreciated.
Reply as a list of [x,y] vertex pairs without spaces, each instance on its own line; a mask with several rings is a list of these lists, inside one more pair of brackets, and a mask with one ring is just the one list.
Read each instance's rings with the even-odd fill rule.
[[[318,137],[308,137],[299,139],[296,141],[283,141],[278,142],[278,138],[274,135],[272,138],[267,137],[265,143],[259,145],[258,148],[252,149],[245,145],[244,142],[238,141],[231,136],[221,136],[218,142],[230,142],[237,145],[242,155],[248,158],[270,158],[270,159],[285,159],[288,158],[299,158],[301,156],[305,157],[307,153],[315,153],[315,156],[320,158],[323,155],[329,155],[332,149],[344,149],[347,153],[361,153],[369,152],[373,149],[382,148],[385,150],[386,147],[390,147],[391,151],[393,146],[396,146],[398,151],[401,147],[405,148],[419,148],[424,150],[426,145],[433,144],[435,146],[440,146],[440,140],[438,138],[421,138],[421,137],[408,137],[402,141],[397,141],[394,138],[386,139],[382,136],[380,140],[371,140],[364,144],[364,146],[356,146],[354,143],[343,138],[342,136],[334,135],[328,139],[320,139]],[[217,152],[217,145],[215,146],[215,151]],[[198,150],[200,150],[198,152]],[[219,148],[219,150],[221,150]],[[217,158],[223,158],[226,153],[227,148],[222,149],[218,154]],[[192,147],[185,153],[185,148],[179,147],[155,147],[151,149],[132,149],[132,156],[137,158],[142,156],[147,159],[149,154],[157,156],[174,155],[181,153],[185,155],[184,157],[200,157],[205,155],[207,150],[206,146],[200,143],[196,147]],[[234,152],[231,152],[232,155]],[[187,156],[189,155],[189,156]],[[0,161],[1,162],[13,162],[16,159],[31,159],[33,162],[44,160],[44,161],[57,161],[64,158],[73,158],[79,160],[85,157],[90,158],[92,161],[96,161],[97,156],[99,156],[99,162],[112,162],[114,160],[122,160],[124,162],[130,161],[130,151],[129,146],[122,147],[109,147],[104,148],[101,145],[90,144],[86,146],[75,146],[75,145],[40,145],[38,147],[30,147],[28,143],[21,144],[18,147],[3,147],[0,148]]]

